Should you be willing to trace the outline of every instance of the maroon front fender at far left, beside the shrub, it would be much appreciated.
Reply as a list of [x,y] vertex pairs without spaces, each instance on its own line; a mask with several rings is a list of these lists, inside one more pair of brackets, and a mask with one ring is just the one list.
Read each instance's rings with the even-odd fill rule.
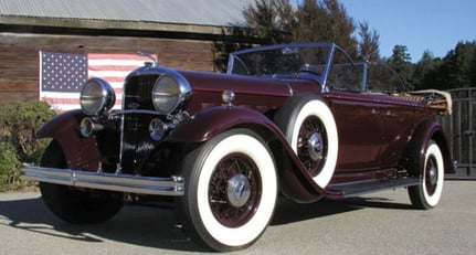
[[63,148],[70,169],[97,170],[101,152],[94,136],[84,138],[80,132],[81,120],[86,117],[81,110],[71,110],[45,123],[38,138],[53,138]]

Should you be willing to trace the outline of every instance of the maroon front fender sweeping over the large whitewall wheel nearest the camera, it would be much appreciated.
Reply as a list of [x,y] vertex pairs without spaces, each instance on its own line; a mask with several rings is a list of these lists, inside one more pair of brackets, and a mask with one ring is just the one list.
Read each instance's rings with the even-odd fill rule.
[[[327,195],[307,172],[279,128],[265,115],[245,107],[211,107],[177,126],[168,136],[170,142],[202,142],[236,127],[251,128],[260,134],[273,150],[281,188],[285,195],[300,203],[314,202]],[[282,163],[289,157],[290,166]]]

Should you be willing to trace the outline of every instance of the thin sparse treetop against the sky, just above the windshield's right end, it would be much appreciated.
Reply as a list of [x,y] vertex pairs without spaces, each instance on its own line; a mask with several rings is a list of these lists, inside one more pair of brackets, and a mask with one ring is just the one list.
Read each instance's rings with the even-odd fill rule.
[[359,59],[369,62],[379,61],[379,33],[375,30],[370,31],[367,22],[361,22],[358,25],[358,35],[360,39],[358,46]]

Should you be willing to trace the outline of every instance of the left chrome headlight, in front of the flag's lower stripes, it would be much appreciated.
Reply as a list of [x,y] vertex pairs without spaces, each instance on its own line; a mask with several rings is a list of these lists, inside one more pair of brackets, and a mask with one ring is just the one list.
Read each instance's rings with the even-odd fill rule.
[[92,78],[81,88],[81,108],[86,115],[98,115],[113,108],[116,95],[104,79]]

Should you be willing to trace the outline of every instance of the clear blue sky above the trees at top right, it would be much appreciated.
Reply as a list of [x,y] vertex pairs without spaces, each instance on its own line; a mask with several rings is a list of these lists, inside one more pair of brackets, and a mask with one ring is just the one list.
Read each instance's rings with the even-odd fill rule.
[[405,45],[412,62],[429,50],[444,57],[458,42],[476,41],[476,0],[339,0],[356,22],[379,35],[380,55]]

